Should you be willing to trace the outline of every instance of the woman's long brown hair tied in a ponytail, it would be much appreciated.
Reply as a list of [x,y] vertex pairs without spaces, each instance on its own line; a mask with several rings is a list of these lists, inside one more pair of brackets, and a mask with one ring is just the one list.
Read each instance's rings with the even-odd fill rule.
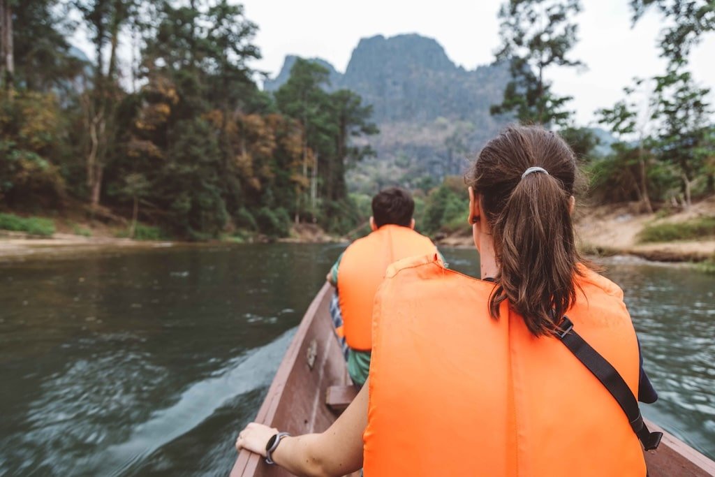
[[[522,178],[529,167],[543,167]],[[508,300],[533,335],[548,335],[576,300],[580,255],[571,222],[578,177],[566,142],[541,127],[509,127],[480,152],[465,180],[480,195],[499,272],[489,312]],[[484,220],[484,217],[482,217]]]

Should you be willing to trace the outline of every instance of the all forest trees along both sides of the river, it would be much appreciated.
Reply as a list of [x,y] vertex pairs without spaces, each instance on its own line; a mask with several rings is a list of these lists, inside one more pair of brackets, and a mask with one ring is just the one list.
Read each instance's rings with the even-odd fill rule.
[[[503,3],[494,62],[511,80],[491,114],[560,132],[597,203],[684,209],[715,193],[710,89],[689,69],[691,49],[715,29],[715,5],[629,5],[633,24],[650,10],[661,17],[667,67],[623,85],[623,99],[598,111],[613,144],[598,147],[593,129],[573,119],[573,98],[546,79],[586,64],[572,56],[580,0]],[[280,88],[262,91],[265,74],[250,67],[258,26],[240,4],[0,0],[0,19],[0,228],[71,211],[122,223],[129,237],[240,239],[286,236],[299,222],[345,234],[369,214],[346,171],[375,154],[372,107],[329,88],[328,69],[303,59]],[[71,44],[78,29],[92,59]],[[460,178],[415,183],[422,230],[461,227]]]

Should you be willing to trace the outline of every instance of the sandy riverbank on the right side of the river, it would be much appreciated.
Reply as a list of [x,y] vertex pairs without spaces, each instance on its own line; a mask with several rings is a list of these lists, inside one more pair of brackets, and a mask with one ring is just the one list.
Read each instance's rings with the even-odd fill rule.
[[[697,240],[641,242],[646,227],[685,225],[715,217],[715,197],[696,203],[689,210],[666,215],[641,214],[636,205],[582,207],[576,218],[576,236],[583,252],[592,255],[632,255],[656,262],[704,262],[715,258],[715,236]],[[471,229],[437,237],[438,245],[473,247]]]

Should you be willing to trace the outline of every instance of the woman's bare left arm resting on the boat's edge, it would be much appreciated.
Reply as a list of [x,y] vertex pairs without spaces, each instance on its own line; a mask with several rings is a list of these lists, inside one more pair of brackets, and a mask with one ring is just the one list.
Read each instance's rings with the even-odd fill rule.
[[[345,476],[363,467],[363,433],[368,425],[368,383],[332,426],[320,434],[286,437],[273,461],[297,476]],[[277,429],[250,423],[236,440],[236,450],[260,453]]]

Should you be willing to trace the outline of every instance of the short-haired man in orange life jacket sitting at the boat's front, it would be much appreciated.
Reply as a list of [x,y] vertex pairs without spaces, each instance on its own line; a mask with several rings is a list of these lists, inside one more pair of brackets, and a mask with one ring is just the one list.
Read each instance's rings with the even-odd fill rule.
[[373,197],[370,235],[352,242],[327,274],[336,288],[330,314],[344,346],[347,371],[362,386],[370,371],[373,299],[391,263],[415,255],[434,255],[435,245],[415,232],[415,202],[400,187]]

